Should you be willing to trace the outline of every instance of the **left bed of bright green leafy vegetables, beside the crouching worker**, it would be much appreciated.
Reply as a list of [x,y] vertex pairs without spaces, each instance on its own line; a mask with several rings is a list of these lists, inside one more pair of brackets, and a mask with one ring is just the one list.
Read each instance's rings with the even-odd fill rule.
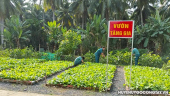
[[35,81],[66,69],[70,66],[73,66],[73,62],[48,61],[44,63],[20,65],[16,68],[11,68],[10,70],[2,70],[0,72],[0,78],[21,81]]

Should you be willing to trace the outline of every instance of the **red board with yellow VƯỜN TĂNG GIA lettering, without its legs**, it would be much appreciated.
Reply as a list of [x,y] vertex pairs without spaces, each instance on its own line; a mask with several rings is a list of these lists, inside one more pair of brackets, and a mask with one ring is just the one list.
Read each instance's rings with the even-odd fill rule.
[[132,38],[133,21],[109,21],[110,38]]

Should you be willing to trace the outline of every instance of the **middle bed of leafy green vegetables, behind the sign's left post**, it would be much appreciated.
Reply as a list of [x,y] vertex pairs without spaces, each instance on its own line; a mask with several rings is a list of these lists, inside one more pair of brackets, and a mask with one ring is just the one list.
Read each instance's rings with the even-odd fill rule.
[[83,65],[66,70],[57,77],[49,80],[47,84],[63,86],[72,85],[75,88],[92,88],[99,89],[99,91],[105,91],[106,87],[111,87],[115,70],[115,65],[108,65],[107,77],[106,64],[86,62]]

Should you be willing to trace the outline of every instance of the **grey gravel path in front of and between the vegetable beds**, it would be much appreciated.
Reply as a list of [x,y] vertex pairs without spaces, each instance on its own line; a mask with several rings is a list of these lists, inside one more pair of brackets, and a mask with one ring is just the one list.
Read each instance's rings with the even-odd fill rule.
[[[47,80],[50,80],[51,78],[56,77],[58,74],[55,74],[47,78]],[[91,91],[91,90],[47,87],[45,86],[45,80],[40,81],[35,85],[22,85],[22,84],[15,84],[15,83],[0,82],[0,89],[19,91],[19,92],[49,94],[49,95],[62,95],[62,96],[120,96],[120,95],[117,95],[117,91],[125,90],[125,87],[123,86],[124,82],[125,81],[124,81],[123,67],[117,67],[117,70],[116,70],[116,73],[113,79],[113,84],[111,86],[111,90],[110,92],[107,92],[107,93],[96,92],[96,91]]]

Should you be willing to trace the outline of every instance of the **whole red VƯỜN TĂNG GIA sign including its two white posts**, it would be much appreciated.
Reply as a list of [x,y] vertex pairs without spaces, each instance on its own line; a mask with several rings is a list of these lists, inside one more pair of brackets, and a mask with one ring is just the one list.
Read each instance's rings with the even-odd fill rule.
[[[134,21],[109,21],[108,22],[108,38],[107,38],[107,67],[106,67],[106,91],[107,91],[107,71],[108,71],[108,52],[109,52],[109,38],[132,38],[133,49],[133,34],[134,34]],[[132,71],[132,52],[130,64],[130,83]]]

